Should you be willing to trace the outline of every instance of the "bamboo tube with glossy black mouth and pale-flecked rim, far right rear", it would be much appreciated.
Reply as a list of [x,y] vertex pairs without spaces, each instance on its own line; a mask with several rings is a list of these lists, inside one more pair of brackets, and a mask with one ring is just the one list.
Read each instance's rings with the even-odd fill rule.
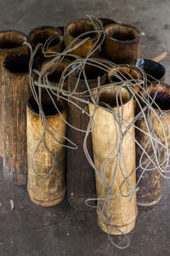
[[158,84],[158,81],[164,82],[166,69],[160,63],[149,59],[139,59],[137,66],[144,69],[148,84]]

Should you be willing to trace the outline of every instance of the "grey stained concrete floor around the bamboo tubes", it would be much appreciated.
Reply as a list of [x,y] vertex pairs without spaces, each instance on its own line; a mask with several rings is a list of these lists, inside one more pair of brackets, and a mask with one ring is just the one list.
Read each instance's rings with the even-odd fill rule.
[[[62,26],[84,15],[110,17],[144,32],[141,56],[152,58],[170,51],[169,14],[169,0],[0,0],[0,29],[27,33],[35,26]],[[161,63],[167,69],[168,83],[170,55]],[[130,247],[119,250],[99,229],[95,211],[79,212],[66,199],[56,207],[38,207],[31,203],[26,188],[4,181],[2,159],[0,166],[0,256],[170,255],[170,181],[165,181],[156,209],[139,213],[136,226],[128,235]],[[122,236],[113,239],[123,241]]]

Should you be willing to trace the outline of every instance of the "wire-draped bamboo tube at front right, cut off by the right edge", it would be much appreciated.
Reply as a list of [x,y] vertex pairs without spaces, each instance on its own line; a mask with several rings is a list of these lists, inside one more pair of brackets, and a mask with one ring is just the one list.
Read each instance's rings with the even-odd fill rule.
[[[148,89],[150,90],[150,89]],[[154,127],[154,131],[156,133],[156,137],[161,141],[161,143],[165,144],[165,137],[167,138],[167,146],[170,146],[170,135],[169,135],[169,129],[168,126],[170,127],[170,107],[169,107],[169,102],[170,102],[170,85],[168,84],[160,84],[159,88],[156,85],[153,85],[150,90],[150,96],[154,97],[156,96],[155,102],[161,108],[163,113],[166,113],[166,119],[167,119],[167,124],[165,122],[165,119],[160,117],[161,123],[157,120],[156,113],[160,114],[161,111],[156,108],[156,105],[153,104],[153,108],[155,109],[156,113],[152,112],[152,117],[151,117],[151,128]],[[147,112],[144,113],[145,117],[147,117]],[[147,121],[148,122],[148,121]],[[156,125],[155,125],[156,124]],[[136,125],[145,132],[148,132],[146,123],[144,121],[144,117],[141,119],[138,119],[136,122]],[[163,136],[163,131],[162,127],[164,128],[165,131],[165,137]],[[151,131],[150,128],[150,131]],[[149,139],[149,136],[144,134],[144,132],[139,131],[136,129],[136,139],[139,142],[139,144],[145,148]],[[158,160],[159,163],[161,164],[164,160],[164,151],[165,149],[161,146],[158,145],[159,147],[159,156]],[[153,148],[151,146],[151,143],[148,143],[147,147],[145,148],[145,151],[147,154],[151,156],[153,154]],[[139,166],[140,159],[143,167],[139,167],[137,170],[137,182],[139,181],[139,177],[141,177],[139,181],[139,191],[137,192],[137,203],[139,207],[139,211],[150,211],[151,209],[155,208],[157,203],[161,200],[161,189],[162,189],[162,183],[163,183],[163,178],[161,174],[156,170],[156,159],[154,158],[154,163],[149,164],[149,159],[146,154],[143,154],[143,150],[139,148],[139,146],[136,146],[136,163],[137,166]],[[145,164],[144,164],[145,162]],[[149,165],[148,165],[149,164]],[[166,164],[166,162],[165,162]],[[151,171],[144,171],[144,166],[146,166],[147,169],[153,168]],[[163,166],[164,167],[164,166]],[[144,173],[143,173],[144,171]]]

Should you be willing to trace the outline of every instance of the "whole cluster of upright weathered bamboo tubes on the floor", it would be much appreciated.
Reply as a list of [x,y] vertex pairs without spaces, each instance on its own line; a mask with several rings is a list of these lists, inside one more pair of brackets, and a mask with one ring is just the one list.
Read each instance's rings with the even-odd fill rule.
[[77,209],[97,198],[99,227],[111,235],[133,230],[138,208],[156,207],[167,165],[170,86],[161,64],[139,59],[140,39],[135,27],[102,18],[28,37],[0,32],[4,177],[27,184],[41,206],[58,204],[66,188]]

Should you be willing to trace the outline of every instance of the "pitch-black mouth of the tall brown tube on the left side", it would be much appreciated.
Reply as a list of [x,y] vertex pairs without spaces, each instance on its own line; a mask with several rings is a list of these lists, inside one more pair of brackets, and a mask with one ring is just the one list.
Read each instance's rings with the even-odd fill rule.
[[[11,73],[28,73],[30,55],[8,55],[3,61],[3,67],[6,67]],[[38,62],[33,61],[33,69],[38,68]]]

